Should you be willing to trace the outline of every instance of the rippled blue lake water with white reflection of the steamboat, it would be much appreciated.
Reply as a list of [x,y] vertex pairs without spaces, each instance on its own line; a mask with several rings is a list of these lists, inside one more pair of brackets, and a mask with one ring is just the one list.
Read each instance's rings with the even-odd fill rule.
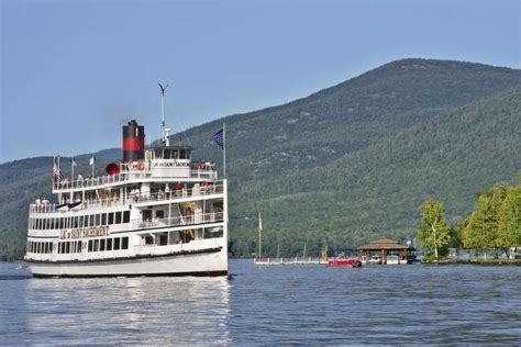
[[521,344],[521,267],[255,267],[27,279],[0,264],[0,344]]

